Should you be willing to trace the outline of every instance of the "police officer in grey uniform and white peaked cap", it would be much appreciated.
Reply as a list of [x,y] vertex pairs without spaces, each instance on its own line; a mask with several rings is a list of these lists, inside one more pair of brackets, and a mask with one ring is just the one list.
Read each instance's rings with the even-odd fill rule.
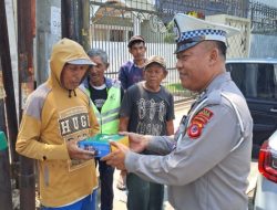
[[[246,210],[253,119],[225,70],[226,36],[237,30],[185,14],[174,23],[182,85],[199,98],[174,138],[125,133],[132,150],[111,143],[119,149],[103,160],[167,185],[175,209]],[[136,154],[145,148],[164,156]]]

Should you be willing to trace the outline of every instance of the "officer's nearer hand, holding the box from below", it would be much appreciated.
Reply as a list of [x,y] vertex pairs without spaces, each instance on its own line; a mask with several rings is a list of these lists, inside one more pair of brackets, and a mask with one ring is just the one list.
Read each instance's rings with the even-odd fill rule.
[[106,161],[107,165],[116,167],[120,170],[125,170],[125,156],[130,149],[126,146],[116,141],[111,141],[110,144],[111,146],[116,147],[117,149],[109,154],[107,156],[101,158],[101,160]]

